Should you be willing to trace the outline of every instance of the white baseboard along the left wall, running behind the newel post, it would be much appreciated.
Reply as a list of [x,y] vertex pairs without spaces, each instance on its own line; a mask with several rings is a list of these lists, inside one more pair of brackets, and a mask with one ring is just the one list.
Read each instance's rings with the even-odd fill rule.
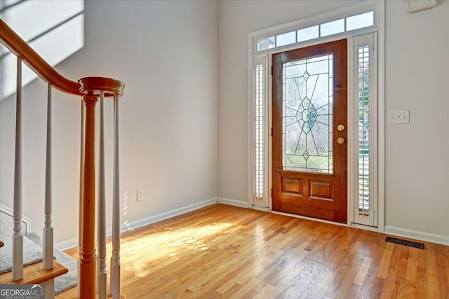
[[[201,209],[202,207],[207,207],[210,204],[216,204],[216,203],[217,203],[217,198],[212,198],[210,200],[204,200],[203,202],[196,202],[194,204],[189,204],[188,206],[181,207],[179,209],[166,211],[164,213],[150,216],[147,218],[142,218],[140,220],[131,221],[131,222],[125,221],[125,223],[122,223],[120,230],[121,230],[121,232],[128,232],[129,230],[135,230],[136,228],[142,228],[142,227],[150,225],[152,223],[163,221],[168,218],[173,218],[175,216],[188,213],[189,211]],[[106,236],[110,237],[111,235],[112,235],[112,229],[108,228],[106,231]],[[75,248],[76,246],[78,246],[78,237],[73,238],[73,239],[67,239],[67,240],[64,240],[61,242],[57,242],[57,243],[55,243],[55,246],[58,247],[58,249],[60,249],[62,251]]]

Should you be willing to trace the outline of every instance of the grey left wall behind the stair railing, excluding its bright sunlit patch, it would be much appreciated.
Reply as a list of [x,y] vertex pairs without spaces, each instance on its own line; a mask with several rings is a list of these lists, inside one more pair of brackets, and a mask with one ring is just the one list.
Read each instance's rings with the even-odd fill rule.
[[[139,221],[217,197],[217,2],[85,4],[85,46],[56,69],[74,80],[109,76],[126,83],[120,100],[122,220]],[[23,213],[37,232],[43,223],[45,90],[36,81],[24,91]],[[54,95],[53,221],[60,242],[78,235],[80,103]],[[0,102],[0,198],[8,207],[13,101]],[[112,161],[110,101],[106,108],[106,158]],[[110,198],[110,164],[107,173]],[[145,188],[142,202],[135,200],[137,188]]]

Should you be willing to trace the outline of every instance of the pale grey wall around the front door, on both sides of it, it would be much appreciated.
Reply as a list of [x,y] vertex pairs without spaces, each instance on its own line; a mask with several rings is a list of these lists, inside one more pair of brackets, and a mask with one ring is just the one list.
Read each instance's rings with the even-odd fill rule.
[[[248,200],[248,33],[351,2],[220,1],[219,197]],[[410,15],[386,2],[387,110],[410,110],[410,125],[386,125],[386,225],[448,242],[449,1]]]

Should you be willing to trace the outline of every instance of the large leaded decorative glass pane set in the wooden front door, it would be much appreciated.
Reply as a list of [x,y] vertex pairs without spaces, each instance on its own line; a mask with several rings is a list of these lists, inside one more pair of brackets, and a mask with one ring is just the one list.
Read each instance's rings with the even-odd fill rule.
[[283,64],[283,169],[333,173],[333,55]]

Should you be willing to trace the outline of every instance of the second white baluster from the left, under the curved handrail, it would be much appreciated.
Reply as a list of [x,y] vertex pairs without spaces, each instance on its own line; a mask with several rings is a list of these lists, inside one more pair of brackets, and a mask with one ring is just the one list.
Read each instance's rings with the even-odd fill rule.
[[51,84],[47,88],[47,141],[45,171],[45,227],[43,228],[43,270],[53,269],[53,226],[51,192]]

